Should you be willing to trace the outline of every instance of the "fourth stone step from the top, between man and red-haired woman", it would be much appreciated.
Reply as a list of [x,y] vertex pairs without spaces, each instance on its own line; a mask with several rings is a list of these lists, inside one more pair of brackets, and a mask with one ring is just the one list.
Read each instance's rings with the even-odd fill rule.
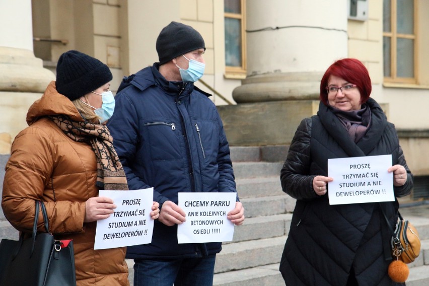
[[269,197],[240,199],[246,218],[266,217],[292,212],[295,199],[287,194]]

